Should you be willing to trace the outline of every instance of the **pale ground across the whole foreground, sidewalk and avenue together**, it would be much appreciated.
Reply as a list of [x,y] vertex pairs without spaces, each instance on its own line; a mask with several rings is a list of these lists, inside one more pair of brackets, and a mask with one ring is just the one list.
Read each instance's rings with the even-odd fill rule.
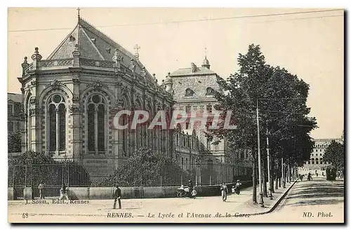
[[[279,191],[282,193],[282,190]],[[279,191],[275,194],[276,196],[278,196]],[[314,180],[312,182],[297,182],[274,212],[245,217],[243,214],[251,210],[251,192],[251,188],[244,189],[239,196],[228,196],[227,202],[221,201],[219,194],[218,196],[195,199],[129,199],[122,200],[122,210],[112,210],[112,200],[88,201],[89,203],[85,204],[53,204],[51,200],[47,200],[48,203],[46,204],[32,204],[29,201],[29,204],[25,204],[25,201],[9,201],[8,219],[16,222],[343,221],[343,181]],[[252,212],[266,210],[269,210],[269,208],[260,208],[258,205],[252,208]],[[311,212],[313,217],[303,217],[304,212]],[[317,217],[318,212],[323,212],[324,215],[331,212],[333,217],[322,217],[322,214]],[[23,215],[23,213],[28,213],[28,216]],[[121,213],[126,214],[124,214],[124,217],[117,217],[116,213],[119,215]],[[183,216],[181,216],[182,213]],[[220,217],[218,217],[219,214]]]

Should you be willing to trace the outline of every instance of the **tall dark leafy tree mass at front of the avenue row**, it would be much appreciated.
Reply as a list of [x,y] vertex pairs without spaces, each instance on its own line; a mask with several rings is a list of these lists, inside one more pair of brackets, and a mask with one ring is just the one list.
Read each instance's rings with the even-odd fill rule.
[[[307,117],[310,112],[306,106],[307,83],[286,69],[267,65],[260,46],[251,44],[246,54],[239,54],[238,64],[238,72],[230,74],[227,80],[218,81],[225,93],[216,93],[216,109],[223,111],[224,116],[227,111],[232,111],[231,123],[237,125],[237,129],[225,129],[224,121],[220,121],[220,128],[208,130],[208,135],[225,138],[232,149],[251,150],[253,203],[257,203],[257,107],[260,115],[261,156],[266,155],[262,153],[266,151],[265,137],[266,130],[269,130],[272,162],[274,158],[281,157],[290,163],[306,161],[313,147],[309,133],[317,127],[317,123],[314,118]],[[262,165],[264,167],[265,163]],[[263,171],[266,170],[263,168]],[[264,178],[265,175],[263,182]]]

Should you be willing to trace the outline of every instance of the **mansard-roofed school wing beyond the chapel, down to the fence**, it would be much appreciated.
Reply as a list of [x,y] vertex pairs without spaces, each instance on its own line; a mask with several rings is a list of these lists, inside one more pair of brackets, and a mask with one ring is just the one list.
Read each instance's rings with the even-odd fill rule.
[[[201,67],[197,67],[193,62],[190,67],[178,69],[168,73],[164,84],[171,85],[173,90],[173,106],[174,111],[185,112],[186,114],[194,114],[201,116],[207,114],[206,127],[212,126],[213,119],[216,119],[215,105],[216,92],[223,93],[223,90],[218,84],[220,76],[210,69],[211,65],[207,57],[204,57]],[[182,123],[178,130],[183,130],[183,133],[191,134],[195,130],[199,140],[199,154],[201,162],[206,162],[207,165],[212,165],[213,173],[211,179],[216,181],[227,181],[227,178],[232,178],[233,175],[251,175],[249,172],[251,164],[247,161],[248,154],[246,152],[234,151],[227,147],[226,140],[220,140],[216,137],[211,139],[205,134],[206,128],[192,126],[190,119]],[[194,159],[191,156],[180,156],[180,152],[176,152],[178,158],[185,158],[185,161],[194,165]],[[209,175],[208,175],[209,177]]]

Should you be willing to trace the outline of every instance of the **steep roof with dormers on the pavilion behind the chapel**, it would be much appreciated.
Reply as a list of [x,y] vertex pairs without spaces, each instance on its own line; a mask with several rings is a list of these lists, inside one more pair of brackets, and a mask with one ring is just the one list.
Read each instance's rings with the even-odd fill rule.
[[[173,79],[174,100],[211,98],[213,96],[206,95],[208,87],[221,91],[217,83],[220,76],[206,67],[197,67],[196,72],[192,72],[192,68],[178,69],[170,76]],[[187,88],[194,91],[193,96],[185,96]]]

